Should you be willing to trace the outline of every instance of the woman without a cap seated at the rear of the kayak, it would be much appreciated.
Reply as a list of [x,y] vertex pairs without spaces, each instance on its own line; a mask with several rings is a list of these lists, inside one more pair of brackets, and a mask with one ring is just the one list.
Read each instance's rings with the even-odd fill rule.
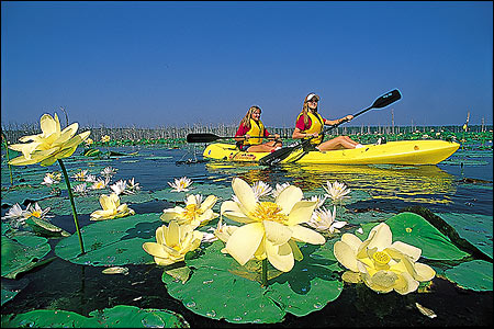
[[242,151],[248,152],[270,152],[281,147],[280,135],[274,134],[274,140],[262,144],[263,137],[269,137],[265,125],[260,121],[261,110],[259,106],[250,106],[247,114],[240,121],[235,140]]

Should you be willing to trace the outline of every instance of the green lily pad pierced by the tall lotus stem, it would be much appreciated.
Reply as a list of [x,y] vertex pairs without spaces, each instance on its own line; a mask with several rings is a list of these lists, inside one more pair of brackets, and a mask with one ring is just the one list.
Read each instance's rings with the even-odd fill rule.
[[93,266],[153,262],[153,257],[144,251],[143,243],[156,241],[156,229],[164,224],[159,216],[136,214],[89,224],[81,228],[85,254],[80,254],[77,235],[60,240],[55,247],[55,253],[69,262]]

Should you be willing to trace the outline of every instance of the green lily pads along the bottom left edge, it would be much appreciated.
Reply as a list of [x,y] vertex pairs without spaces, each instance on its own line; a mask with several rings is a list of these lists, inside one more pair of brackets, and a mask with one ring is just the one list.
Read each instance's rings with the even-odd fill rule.
[[2,315],[2,327],[35,328],[190,328],[186,319],[171,310],[117,305],[93,310],[89,317],[60,309],[36,309]]

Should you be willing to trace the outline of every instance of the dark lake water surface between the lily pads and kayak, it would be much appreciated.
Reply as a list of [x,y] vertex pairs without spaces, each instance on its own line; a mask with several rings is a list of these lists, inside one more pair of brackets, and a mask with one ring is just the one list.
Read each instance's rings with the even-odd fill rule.
[[[214,183],[229,186],[239,177],[250,184],[263,181],[271,186],[290,182],[304,194],[321,193],[326,181],[345,182],[352,191],[370,197],[347,206],[351,212],[396,214],[404,207],[424,206],[434,213],[479,214],[490,218],[492,246],[493,157],[492,151],[459,150],[438,166],[297,166],[268,168],[255,164],[232,164],[201,160],[201,148],[168,149],[160,147],[113,148],[115,151],[138,154],[103,162],[91,159],[67,161],[70,171],[91,166],[119,169],[112,182],[135,178],[143,190],[169,188],[181,177],[194,184]],[[2,155],[3,158],[3,155]],[[177,163],[179,161],[179,163]],[[184,162],[183,162],[184,161]],[[36,167],[30,166],[31,167]],[[38,167],[38,166],[37,166]],[[9,185],[2,162],[2,194]],[[14,168],[14,177],[22,177],[23,168]],[[59,171],[52,166],[45,170]],[[43,180],[41,173],[41,180]],[[109,193],[109,190],[105,191]],[[233,193],[233,192],[232,192]],[[21,201],[20,201],[21,202]],[[43,204],[40,202],[40,204]],[[173,207],[175,202],[154,200],[130,204],[138,214],[159,213]],[[2,216],[9,206],[2,197]],[[119,219],[114,219],[119,220]],[[79,216],[81,226],[92,224],[89,214]],[[71,215],[55,216],[52,223],[74,234]],[[50,240],[53,246],[59,240]],[[55,256],[52,251],[48,257]],[[493,320],[493,293],[462,290],[442,277],[435,277],[428,293],[377,294],[362,285],[345,284],[341,295],[318,311],[304,317],[288,314],[277,325],[234,325],[190,311],[180,300],[170,297],[161,282],[162,270],[155,265],[128,265],[128,275],[105,275],[99,266],[83,266],[56,258],[35,271],[19,275],[15,284],[25,286],[2,306],[2,315],[21,314],[33,309],[64,309],[88,315],[94,309],[115,305],[141,308],[170,309],[181,314],[191,327],[375,327],[375,326],[489,326]],[[13,281],[2,279],[2,285]],[[214,296],[211,296],[214,298]],[[414,306],[419,303],[431,308],[437,318],[422,315]]]

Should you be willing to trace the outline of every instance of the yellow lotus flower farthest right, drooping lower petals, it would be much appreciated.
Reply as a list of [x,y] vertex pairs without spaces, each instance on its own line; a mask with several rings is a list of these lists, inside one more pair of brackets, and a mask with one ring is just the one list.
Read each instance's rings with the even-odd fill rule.
[[385,223],[369,232],[363,242],[352,234],[344,234],[334,246],[336,259],[350,273],[343,279],[348,282],[363,280],[367,286],[379,293],[395,291],[406,295],[417,290],[419,281],[430,281],[436,272],[417,260],[422,250],[414,246],[395,241]]

